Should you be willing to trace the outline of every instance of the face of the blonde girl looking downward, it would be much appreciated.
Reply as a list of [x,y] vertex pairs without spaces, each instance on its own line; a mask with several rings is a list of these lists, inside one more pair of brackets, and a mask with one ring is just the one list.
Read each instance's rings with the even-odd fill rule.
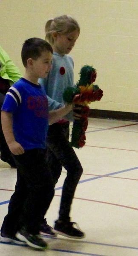
[[57,52],[60,55],[69,54],[75,46],[78,36],[78,30],[74,30],[73,32],[64,35],[55,32],[53,35],[54,45],[52,46],[54,52]]

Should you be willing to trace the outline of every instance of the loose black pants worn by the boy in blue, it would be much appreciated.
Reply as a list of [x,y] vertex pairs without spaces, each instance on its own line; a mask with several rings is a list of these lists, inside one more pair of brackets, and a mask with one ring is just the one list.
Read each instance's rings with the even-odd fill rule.
[[24,154],[13,157],[17,164],[17,183],[1,233],[14,236],[24,226],[29,233],[37,234],[54,196],[52,175],[46,163],[46,150],[27,150]]

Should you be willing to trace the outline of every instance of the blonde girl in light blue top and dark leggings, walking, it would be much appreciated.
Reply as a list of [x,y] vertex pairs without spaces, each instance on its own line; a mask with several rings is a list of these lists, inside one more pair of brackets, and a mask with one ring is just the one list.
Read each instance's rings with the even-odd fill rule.
[[[63,92],[66,87],[73,87],[74,72],[73,59],[68,54],[75,46],[80,34],[78,22],[69,15],[62,15],[50,19],[45,26],[46,41],[52,45],[54,54],[52,68],[47,79],[39,82],[46,88],[47,95],[57,102],[63,102]],[[49,109],[50,110],[50,109]],[[69,121],[61,119],[49,126],[47,137],[47,161],[51,169],[54,185],[58,182],[62,167],[67,171],[63,184],[59,218],[55,221],[54,232],[70,238],[83,238],[84,233],[71,222],[69,213],[75,189],[82,175],[83,169],[69,143]],[[47,223],[43,223],[41,232],[47,232]],[[47,225],[49,227],[49,225]],[[46,227],[46,229],[45,229]]]

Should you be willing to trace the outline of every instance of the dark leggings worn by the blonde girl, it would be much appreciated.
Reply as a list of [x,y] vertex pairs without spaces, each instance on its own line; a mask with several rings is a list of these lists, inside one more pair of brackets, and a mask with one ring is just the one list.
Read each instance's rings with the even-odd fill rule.
[[47,145],[47,163],[52,172],[54,185],[58,182],[62,167],[67,171],[63,183],[59,219],[69,221],[75,189],[83,172],[80,161],[69,144],[69,122],[55,123],[49,126]]

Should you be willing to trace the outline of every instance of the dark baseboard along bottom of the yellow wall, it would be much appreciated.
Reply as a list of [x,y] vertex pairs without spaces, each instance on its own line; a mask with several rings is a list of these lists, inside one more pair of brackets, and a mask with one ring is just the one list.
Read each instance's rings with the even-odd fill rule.
[[138,113],[90,109],[89,117],[138,121]]

